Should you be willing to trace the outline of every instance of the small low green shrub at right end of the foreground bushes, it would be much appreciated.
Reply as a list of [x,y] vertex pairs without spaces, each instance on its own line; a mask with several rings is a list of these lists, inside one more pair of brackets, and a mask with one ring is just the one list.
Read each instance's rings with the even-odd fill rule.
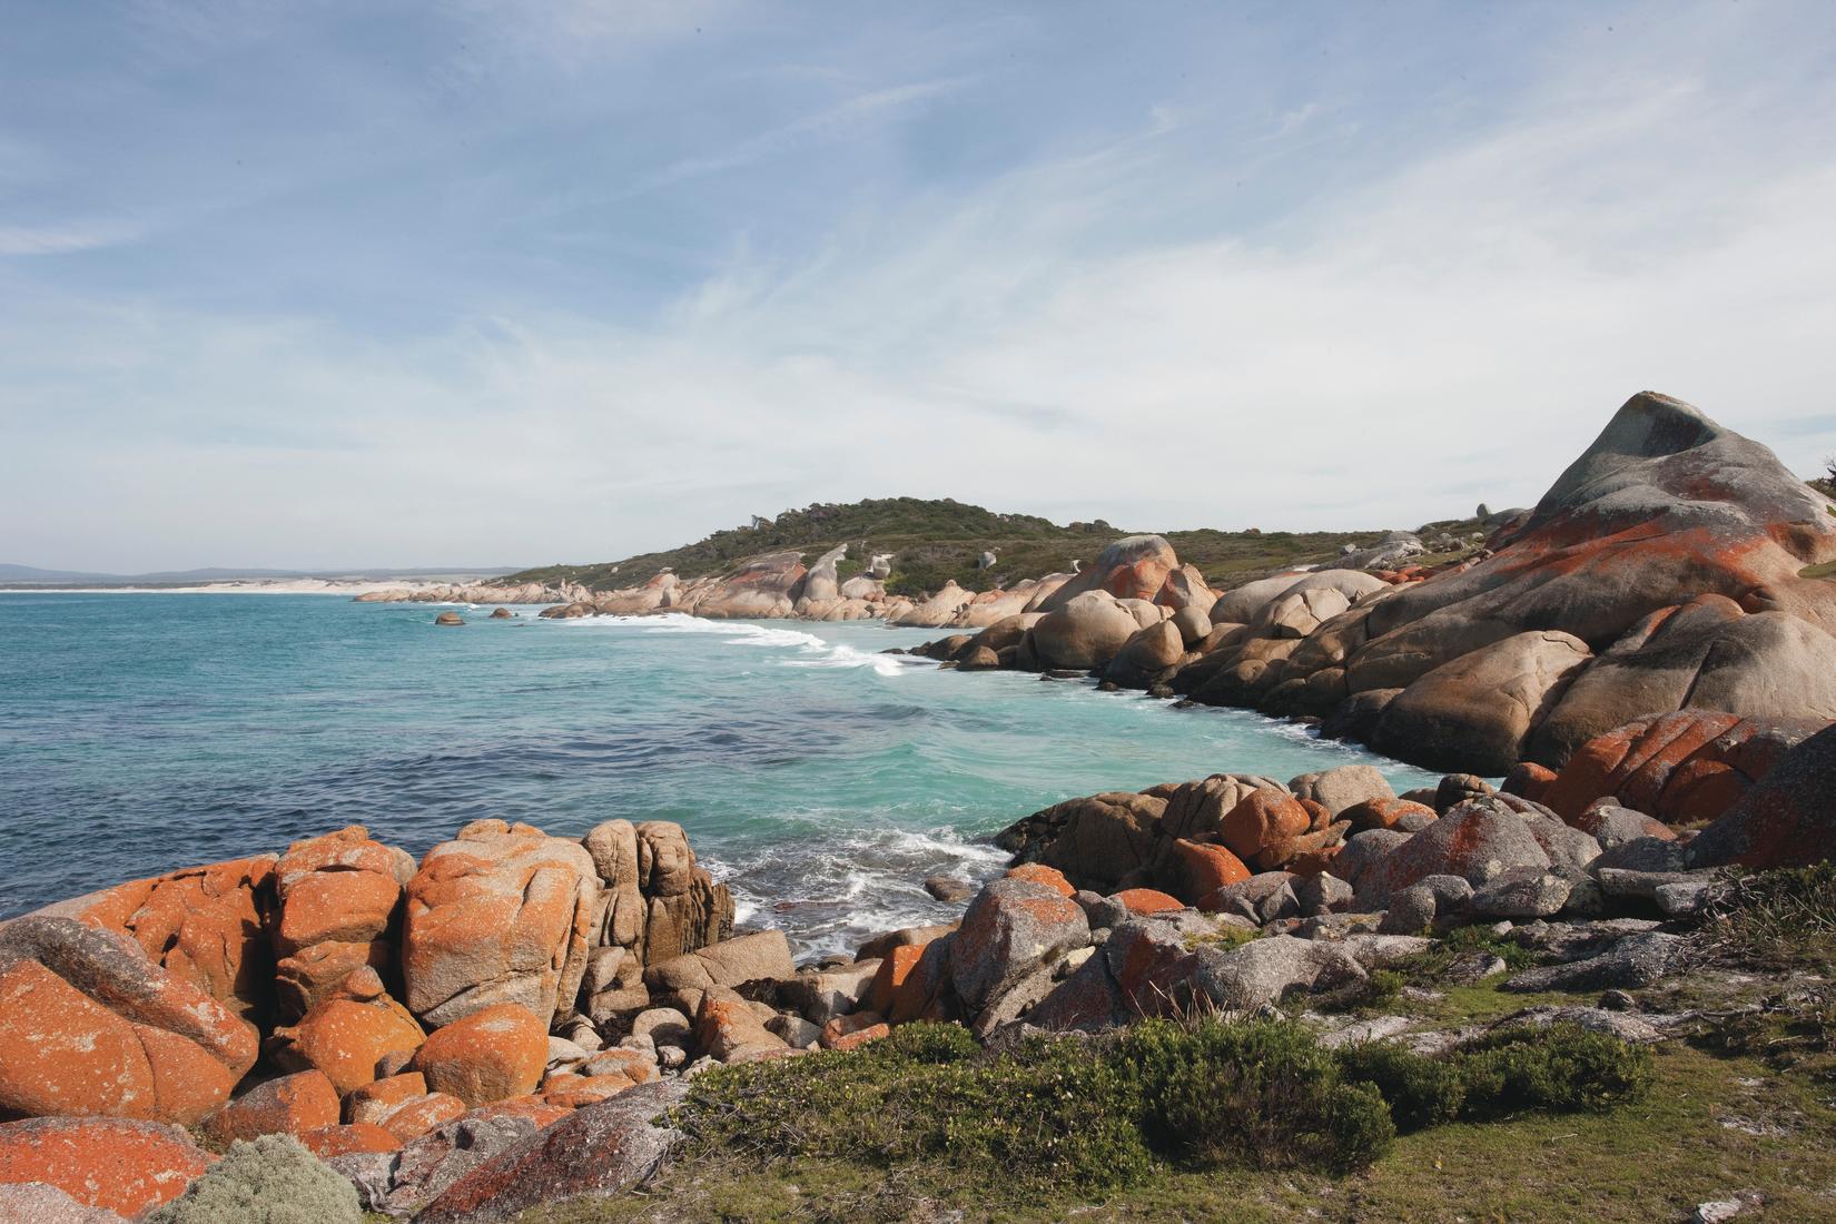
[[1605,1112],[1651,1086],[1649,1050],[1579,1024],[1498,1029],[1461,1046],[1452,1063],[1467,1086],[1465,1118]]

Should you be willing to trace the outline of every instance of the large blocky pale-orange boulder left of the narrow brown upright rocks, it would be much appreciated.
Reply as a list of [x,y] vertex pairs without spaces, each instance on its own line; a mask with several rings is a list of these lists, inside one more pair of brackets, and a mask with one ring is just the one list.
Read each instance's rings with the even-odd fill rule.
[[408,1007],[441,1026],[518,1004],[547,1026],[580,989],[597,903],[599,872],[580,842],[474,820],[408,883]]

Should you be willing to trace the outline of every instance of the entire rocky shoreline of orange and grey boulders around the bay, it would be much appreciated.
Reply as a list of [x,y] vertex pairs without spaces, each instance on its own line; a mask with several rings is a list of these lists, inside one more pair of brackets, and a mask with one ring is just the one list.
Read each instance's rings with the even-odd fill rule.
[[[999,835],[1004,875],[927,883],[960,919],[802,965],[780,930],[734,930],[668,822],[474,820],[419,862],[351,826],[123,883],[0,923],[0,1218],[185,1224],[261,1178],[308,1187],[319,1220],[518,1218],[655,1176],[705,1072],[907,1024],[991,1052],[1278,1009],[1320,1040],[1483,1039],[1381,1004],[1346,1018],[1403,967],[1434,965],[1430,993],[1562,996],[1496,1024],[1665,1042],[1704,1013],[1656,991],[1706,980],[1739,872],[1836,840],[1836,585],[1801,576],[1836,556],[1836,514],[1663,396],[1436,573],[1215,591],[1131,538],[1081,573],[898,607],[883,574],[839,582],[841,556],[543,615],[979,624],[920,651],[1318,718],[1461,773],[1074,798]],[[439,598],[542,595],[494,591]]]

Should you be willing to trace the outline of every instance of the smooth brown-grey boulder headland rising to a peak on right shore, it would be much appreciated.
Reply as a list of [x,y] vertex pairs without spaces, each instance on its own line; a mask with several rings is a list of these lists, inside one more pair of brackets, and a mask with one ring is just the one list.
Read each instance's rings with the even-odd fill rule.
[[911,653],[1318,719],[1428,769],[1553,771],[1649,716],[1728,716],[1715,734],[1836,718],[1836,584],[1803,576],[1832,558],[1827,497],[1647,391],[1535,508],[1434,571],[1214,591],[1166,540],[1136,536],[1023,611]]

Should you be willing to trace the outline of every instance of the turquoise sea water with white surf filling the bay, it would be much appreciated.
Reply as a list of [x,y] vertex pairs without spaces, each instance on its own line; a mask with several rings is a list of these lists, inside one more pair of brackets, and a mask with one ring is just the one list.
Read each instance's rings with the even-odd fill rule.
[[1243,710],[878,651],[879,624],[661,618],[435,628],[426,604],[0,595],[0,916],[367,824],[578,835],[679,820],[742,919],[804,949],[951,910],[990,833],[1056,800],[1373,762]]

